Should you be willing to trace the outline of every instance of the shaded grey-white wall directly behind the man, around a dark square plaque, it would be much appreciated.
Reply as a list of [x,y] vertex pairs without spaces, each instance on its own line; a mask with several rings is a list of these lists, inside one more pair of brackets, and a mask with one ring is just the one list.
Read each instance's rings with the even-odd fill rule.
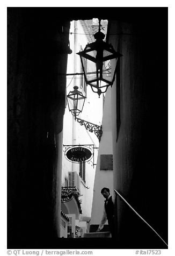
[[102,126],[103,126],[103,136],[101,137],[101,142],[99,146],[96,176],[94,180],[92,215],[91,215],[91,222],[90,222],[91,225],[100,224],[101,218],[103,216],[105,198],[100,193],[101,189],[104,187],[107,187],[110,189],[111,195],[114,195],[113,170],[100,170],[100,155],[113,154],[112,121],[111,121],[111,87],[108,88],[105,96]]

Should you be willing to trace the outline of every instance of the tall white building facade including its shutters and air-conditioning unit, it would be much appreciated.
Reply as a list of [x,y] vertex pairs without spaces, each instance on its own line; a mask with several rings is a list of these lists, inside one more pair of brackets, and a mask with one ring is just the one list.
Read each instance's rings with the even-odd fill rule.
[[[68,104],[65,108],[63,121],[62,187],[75,186],[75,190],[71,201],[61,203],[61,210],[67,216],[71,214],[71,218],[74,219],[71,221],[72,234],[71,236],[68,234],[68,237],[74,238],[83,237],[84,233],[89,232],[94,175],[99,148],[99,138],[94,131],[86,130],[85,125],[81,125],[80,121],[85,120],[91,125],[95,124],[100,127],[103,116],[104,97],[98,98],[98,95],[93,94],[91,88],[86,86],[83,75],[75,75],[83,73],[81,60],[76,53],[82,51],[86,44],[94,40],[91,26],[93,26],[93,20],[72,21],[69,37],[72,54],[68,56],[67,95],[69,91],[74,91],[74,87],[77,86],[78,90],[86,97],[83,111],[77,116],[78,122],[69,112]],[[85,146],[91,151],[92,157],[86,162],[72,162],[66,158],[67,148],[70,145]],[[72,150],[74,151],[74,149]]]

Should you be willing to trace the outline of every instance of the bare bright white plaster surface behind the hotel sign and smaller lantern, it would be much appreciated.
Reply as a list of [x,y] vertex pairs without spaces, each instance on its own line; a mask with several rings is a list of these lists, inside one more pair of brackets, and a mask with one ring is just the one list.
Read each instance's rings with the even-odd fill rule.
[[[70,48],[72,54],[68,55],[68,67],[67,73],[81,73],[81,60],[76,52],[79,52],[82,48],[84,49],[85,45],[88,43],[86,35],[84,33],[83,27],[79,21],[71,23],[70,32],[74,33],[74,25],[76,26],[76,32],[78,34],[70,34]],[[75,76],[72,79],[72,76],[67,76],[67,95],[69,91],[74,90],[74,86],[80,87],[81,76]],[[88,122],[101,125],[101,120],[103,116],[103,95],[98,97],[98,94],[92,92],[90,86],[86,87],[87,89],[87,98],[85,100],[83,112],[78,116],[81,119],[84,119]],[[64,122],[63,122],[63,144],[64,145],[85,145],[85,144],[94,144],[94,147],[99,146],[99,141],[97,136],[94,133],[91,133],[85,129],[84,126],[81,126],[79,123],[75,122],[71,113],[69,112],[68,105],[65,108]],[[98,150],[94,150],[94,163],[97,163]],[[76,171],[79,174],[79,164],[71,163],[65,159],[63,152],[63,162],[62,162],[62,186],[65,185],[65,177],[68,177],[68,172]],[[96,172],[96,166],[91,166],[86,162],[86,183],[81,182],[81,194],[82,196],[79,199],[82,200],[82,215],[90,217],[92,209],[92,198],[93,198],[93,185],[94,185],[94,176]],[[85,188],[86,186],[89,189]],[[82,223],[82,225],[84,225]]]

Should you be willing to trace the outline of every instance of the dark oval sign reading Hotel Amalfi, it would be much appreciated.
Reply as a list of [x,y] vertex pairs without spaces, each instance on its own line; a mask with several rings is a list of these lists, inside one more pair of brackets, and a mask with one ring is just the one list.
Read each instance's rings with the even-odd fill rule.
[[92,158],[92,152],[85,146],[71,147],[67,150],[65,156],[71,162],[86,162]]

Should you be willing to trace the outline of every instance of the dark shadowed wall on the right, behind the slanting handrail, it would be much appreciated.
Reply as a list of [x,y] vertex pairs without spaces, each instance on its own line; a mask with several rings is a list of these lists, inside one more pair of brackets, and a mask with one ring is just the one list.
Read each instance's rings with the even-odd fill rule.
[[[116,74],[114,188],[167,243],[167,9],[164,19],[156,13],[155,19],[116,24],[123,56]],[[167,248],[122,200],[117,203],[120,246]]]

